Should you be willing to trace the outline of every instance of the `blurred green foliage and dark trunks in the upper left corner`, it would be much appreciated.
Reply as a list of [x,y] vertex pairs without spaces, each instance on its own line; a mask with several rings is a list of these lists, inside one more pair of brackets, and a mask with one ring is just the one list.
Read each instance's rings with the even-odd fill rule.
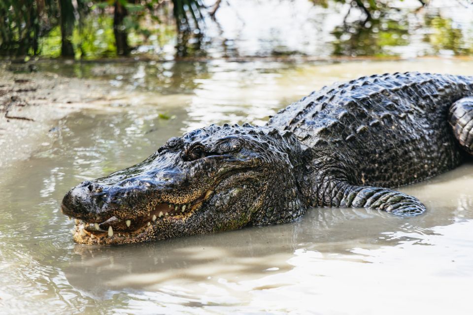
[[[119,22],[111,14],[117,3],[125,8]],[[159,25],[168,6],[176,32]],[[200,48],[203,9],[200,0],[0,0],[0,54],[111,57],[118,33],[132,46],[149,40],[163,45],[177,35],[179,55],[189,55]]]

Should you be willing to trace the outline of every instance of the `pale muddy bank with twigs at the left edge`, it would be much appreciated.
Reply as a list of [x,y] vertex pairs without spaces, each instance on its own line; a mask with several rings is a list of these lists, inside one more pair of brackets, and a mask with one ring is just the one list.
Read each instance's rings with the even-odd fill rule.
[[14,73],[0,64],[0,169],[48,146],[62,117],[117,98],[100,80],[28,70]]

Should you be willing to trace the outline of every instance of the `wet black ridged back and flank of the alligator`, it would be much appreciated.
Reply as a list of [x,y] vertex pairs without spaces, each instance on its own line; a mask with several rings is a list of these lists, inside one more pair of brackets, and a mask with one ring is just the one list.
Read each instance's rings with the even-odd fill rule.
[[472,77],[372,75],[313,92],[268,126],[292,131],[307,147],[336,158],[354,184],[397,187],[461,162],[447,112],[469,95]]

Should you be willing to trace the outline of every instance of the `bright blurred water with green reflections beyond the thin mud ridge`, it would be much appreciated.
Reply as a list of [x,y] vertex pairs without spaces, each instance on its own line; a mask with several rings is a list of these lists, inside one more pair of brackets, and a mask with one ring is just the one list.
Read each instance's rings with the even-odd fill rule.
[[[469,55],[473,5],[461,1],[239,0],[222,3],[206,49],[213,57]],[[354,3],[355,1],[353,1]],[[361,2],[361,1],[358,1]],[[223,43],[223,45],[221,44]]]

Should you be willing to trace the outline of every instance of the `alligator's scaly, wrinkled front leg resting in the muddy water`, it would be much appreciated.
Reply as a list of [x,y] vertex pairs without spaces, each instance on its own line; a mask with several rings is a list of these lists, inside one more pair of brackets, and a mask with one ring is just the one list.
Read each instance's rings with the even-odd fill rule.
[[398,216],[416,216],[425,211],[425,206],[417,198],[397,190],[348,183],[324,186],[322,199],[319,199],[322,206],[368,208]]

